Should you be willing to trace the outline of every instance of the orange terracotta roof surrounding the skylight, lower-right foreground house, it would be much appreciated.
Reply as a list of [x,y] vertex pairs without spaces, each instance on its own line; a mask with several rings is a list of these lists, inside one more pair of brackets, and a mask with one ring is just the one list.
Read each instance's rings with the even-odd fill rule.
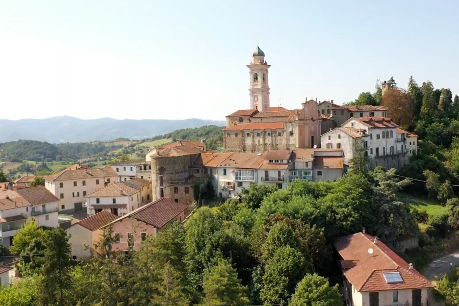
[[[384,243],[368,234],[356,233],[341,237],[335,248],[343,258],[341,267],[348,281],[359,292],[432,288],[433,285],[417,270]],[[371,253],[369,252],[371,249]],[[353,261],[353,265],[349,262]],[[383,273],[400,272],[403,282],[387,283]]]

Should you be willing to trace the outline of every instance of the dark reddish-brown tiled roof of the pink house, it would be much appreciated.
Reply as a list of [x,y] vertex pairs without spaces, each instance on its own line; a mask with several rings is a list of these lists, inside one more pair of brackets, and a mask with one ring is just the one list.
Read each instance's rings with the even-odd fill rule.
[[176,203],[167,198],[160,198],[113,220],[112,224],[125,218],[134,218],[151,226],[161,228],[187,209],[188,206],[184,204]]

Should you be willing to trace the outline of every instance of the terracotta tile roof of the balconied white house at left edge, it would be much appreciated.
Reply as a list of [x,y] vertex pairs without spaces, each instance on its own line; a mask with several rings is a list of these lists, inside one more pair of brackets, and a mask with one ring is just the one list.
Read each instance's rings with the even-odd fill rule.
[[0,191],[0,211],[58,201],[59,199],[50,193],[44,186]]

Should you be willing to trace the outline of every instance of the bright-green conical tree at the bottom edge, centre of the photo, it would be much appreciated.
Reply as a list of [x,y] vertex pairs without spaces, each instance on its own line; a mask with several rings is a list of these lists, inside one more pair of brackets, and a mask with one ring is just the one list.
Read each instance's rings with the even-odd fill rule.
[[248,305],[247,288],[241,285],[237,272],[231,264],[220,259],[211,268],[202,285],[205,306],[239,306]]

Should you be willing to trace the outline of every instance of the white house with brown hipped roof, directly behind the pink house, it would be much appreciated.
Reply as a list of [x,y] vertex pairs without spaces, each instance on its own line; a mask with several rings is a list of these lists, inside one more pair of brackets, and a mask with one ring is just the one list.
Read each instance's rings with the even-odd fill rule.
[[124,216],[139,208],[142,201],[140,190],[123,183],[116,182],[86,195],[88,215],[109,211],[115,216]]

